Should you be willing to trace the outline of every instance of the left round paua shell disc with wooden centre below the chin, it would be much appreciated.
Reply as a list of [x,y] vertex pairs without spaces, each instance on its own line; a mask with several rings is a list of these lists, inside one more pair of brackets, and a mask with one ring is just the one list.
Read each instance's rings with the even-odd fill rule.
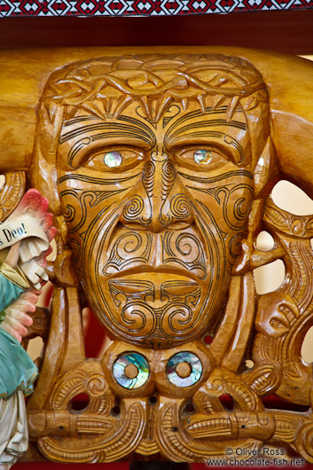
[[124,354],[113,364],[113,377],[123,388],[140,388],[149,378],[149,364],[138,353]]

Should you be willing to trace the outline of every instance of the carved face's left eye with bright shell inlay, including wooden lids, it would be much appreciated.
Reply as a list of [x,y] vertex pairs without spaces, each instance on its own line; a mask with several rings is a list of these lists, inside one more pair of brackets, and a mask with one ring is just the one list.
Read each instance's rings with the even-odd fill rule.
[[139,151],[129,148],[114,148],[93,153],[85,166],[96,171],[121,172],[136,168],[141,161],[144,161],[144,155]]

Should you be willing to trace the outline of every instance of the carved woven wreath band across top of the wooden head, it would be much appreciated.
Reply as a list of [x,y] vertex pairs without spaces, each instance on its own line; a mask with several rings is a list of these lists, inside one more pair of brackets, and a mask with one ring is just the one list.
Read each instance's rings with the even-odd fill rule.
[[205,111],[207,97],[215,98],[213,105],[228,98],[229,106],[235,108],[242,98],[246,98],[246,106],[252,96],[267,101],[264,90],[261,74],[238,57],[138,55],[91,59],[64,67],[51,75],[43,101],[65,106],[65,119],[78,110],[102,119],[106,114],[117,117],[137,102],[148,118],[159,121],[173,101],[184,109],[190,101],[198,101]]

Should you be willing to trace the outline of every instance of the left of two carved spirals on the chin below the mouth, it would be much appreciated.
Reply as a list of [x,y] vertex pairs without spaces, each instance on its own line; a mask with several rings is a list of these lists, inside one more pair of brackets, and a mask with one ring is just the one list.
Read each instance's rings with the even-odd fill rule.
[[121,329],[130,336],[148,336],[155,329],[153,309],[142,302],[131,302],[121,310]]

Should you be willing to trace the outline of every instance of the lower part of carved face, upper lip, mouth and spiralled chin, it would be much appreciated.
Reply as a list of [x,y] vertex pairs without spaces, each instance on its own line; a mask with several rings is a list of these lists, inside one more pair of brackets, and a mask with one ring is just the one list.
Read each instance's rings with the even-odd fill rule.
[[118,226],[107,243],[95,235],[85,245],[83,284],[113,337],[159,349],[206,332],[229,284],[216,240],[207,249],[195,227],[156,234]]

